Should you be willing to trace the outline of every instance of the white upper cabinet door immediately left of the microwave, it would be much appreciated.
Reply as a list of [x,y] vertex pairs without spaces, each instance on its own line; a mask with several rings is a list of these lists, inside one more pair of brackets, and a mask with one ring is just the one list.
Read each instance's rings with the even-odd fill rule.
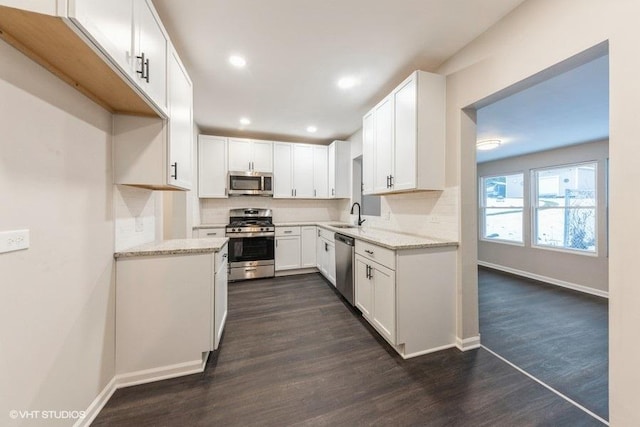
[[227,197],[227,138],[198,137],[198,196]]

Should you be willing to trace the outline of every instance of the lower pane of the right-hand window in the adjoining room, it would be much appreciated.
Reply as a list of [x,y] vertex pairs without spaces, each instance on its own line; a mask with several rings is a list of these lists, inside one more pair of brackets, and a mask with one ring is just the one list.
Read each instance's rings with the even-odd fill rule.
[[536,244],[596,250],[595,208],[536,209]]

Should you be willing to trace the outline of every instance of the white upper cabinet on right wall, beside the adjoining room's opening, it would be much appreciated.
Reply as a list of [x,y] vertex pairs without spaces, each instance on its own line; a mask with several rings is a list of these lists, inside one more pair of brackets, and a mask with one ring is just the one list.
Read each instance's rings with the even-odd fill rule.
[[444,189],[444,119],[445,77],[424,71],[365,115],[364,193]]

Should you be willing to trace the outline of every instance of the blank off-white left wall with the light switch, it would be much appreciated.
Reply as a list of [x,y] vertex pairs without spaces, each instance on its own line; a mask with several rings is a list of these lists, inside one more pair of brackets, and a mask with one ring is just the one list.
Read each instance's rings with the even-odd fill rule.
[[110,114],[4,42],[0,58],[0,230],[31,231],[0,254],[6,426],[85,410],[113,377],[114,215]]

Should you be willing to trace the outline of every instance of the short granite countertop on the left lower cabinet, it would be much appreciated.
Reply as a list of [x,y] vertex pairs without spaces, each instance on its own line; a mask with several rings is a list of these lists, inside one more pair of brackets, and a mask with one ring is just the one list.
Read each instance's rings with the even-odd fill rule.
[[182,255],[218,252],[229,239],[173,239],[145,243],[113,254],[115,258],[149,256],[149,255]]

